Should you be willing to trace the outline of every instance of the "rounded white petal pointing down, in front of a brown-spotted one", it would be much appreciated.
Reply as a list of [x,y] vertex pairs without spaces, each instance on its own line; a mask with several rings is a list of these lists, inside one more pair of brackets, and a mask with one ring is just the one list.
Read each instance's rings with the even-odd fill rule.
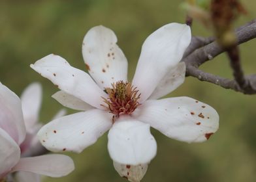
[[157,152],[150,125],[132,118],[115,122],[108,132],[108,152],[112,160],[120,164],[149,163]]

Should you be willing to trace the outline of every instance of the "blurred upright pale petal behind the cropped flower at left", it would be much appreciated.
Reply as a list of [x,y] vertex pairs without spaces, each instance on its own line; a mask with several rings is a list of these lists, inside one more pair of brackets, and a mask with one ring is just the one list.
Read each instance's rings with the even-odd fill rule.
[[27,131],[33,132],[34,125],[39,120],[39,110],[42,101],[42,86],[32,83],[25,88],[22,96],[22,111]]

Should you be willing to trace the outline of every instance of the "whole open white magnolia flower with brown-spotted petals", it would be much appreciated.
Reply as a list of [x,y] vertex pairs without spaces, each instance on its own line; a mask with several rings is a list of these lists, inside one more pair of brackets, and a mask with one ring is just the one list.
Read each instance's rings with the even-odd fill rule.
[[187,97],[157,100],[184,82],[185,64],[180,60],[190,41],[190,28],[179,23],[153,32],[142,45],[132,83],[116,35],[103,26],[90,29],[82,45],[91,77],[53,54],[31,64],[60,89],[53,98],[82,110],[44,125],[38,133],[42,145],[79,153],[110,130],[114,168],[129,181],[140,181],[157,152],[150,126],[184,142],[207,140],[218,129],[216,110]]

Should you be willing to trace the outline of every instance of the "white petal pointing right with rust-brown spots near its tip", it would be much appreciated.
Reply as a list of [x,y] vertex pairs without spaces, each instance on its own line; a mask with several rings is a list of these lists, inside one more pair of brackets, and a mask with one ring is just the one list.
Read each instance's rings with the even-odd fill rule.
[[145,101],[133,116],[170,138],[189,143],[204,142],[219,128],[215,109],[187,97]]

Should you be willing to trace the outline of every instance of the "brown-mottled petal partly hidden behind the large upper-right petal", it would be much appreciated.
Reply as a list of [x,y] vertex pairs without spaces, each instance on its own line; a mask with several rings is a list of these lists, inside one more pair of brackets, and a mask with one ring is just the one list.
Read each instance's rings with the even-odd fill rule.
[[161,79],[157,88],[153,91],[150,99],[161,98],[172,92],[185,81],[185,62],[180,62],[177,66],[170,69],[165,77]]

